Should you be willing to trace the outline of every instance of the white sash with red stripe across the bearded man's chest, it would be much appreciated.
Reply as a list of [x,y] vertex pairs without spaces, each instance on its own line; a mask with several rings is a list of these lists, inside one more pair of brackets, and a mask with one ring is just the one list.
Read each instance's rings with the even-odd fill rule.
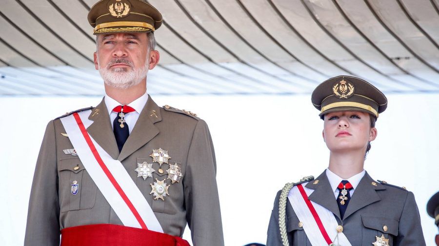
[[[90,112],[86,110],[61,118],[69,140],[88,174],[124,226],[163,232],[151,206],[122,163],[111,158],[86,132],[85,129],[93,123],[88,120]],[[81,127],[84,131],[81,131]],[[96,148],[95,153],[93,148]]]

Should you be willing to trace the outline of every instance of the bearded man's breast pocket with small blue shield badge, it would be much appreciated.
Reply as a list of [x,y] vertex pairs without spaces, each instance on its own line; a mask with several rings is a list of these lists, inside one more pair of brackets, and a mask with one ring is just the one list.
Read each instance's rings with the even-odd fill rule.
[[60,211],[91,209],[98,187],[79,158],[58,161]]

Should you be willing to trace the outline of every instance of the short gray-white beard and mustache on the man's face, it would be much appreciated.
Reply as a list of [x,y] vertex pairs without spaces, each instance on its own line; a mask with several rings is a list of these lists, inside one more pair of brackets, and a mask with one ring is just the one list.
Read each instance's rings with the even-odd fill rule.
[[[116,61],[116,62],[114,62]],[[114,63],[125,63],[133,68],[132,70],[128,70],[127,68],[115,68],[109,69],[109,67]],[[134,65],[126,60],[126,59],[117,59],[110,62],[106,68],[100,67],[100,62],[98,60],[98,68],[100,76],[102,77],[104,83],[108,86],[119,88],[119,89],[127,89],[133,86],[137,86],[142,82],[146,75],[148,74],[149,61],[146,60],[145,66],[140,69],[135,69]]]

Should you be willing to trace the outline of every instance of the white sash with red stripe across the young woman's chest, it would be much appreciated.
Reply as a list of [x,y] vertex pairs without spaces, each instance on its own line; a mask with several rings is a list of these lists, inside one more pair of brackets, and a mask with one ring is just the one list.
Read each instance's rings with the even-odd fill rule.
[[[314,190],[306,188],[306,184],[307,183],[302,183],[301,185],[306,193],[306,196],[308,197],[311,193],[314,192]],[[323,238],[323,235],[319,229],[316,220],[314,219],[313,214],[310,211],[310,208],[303,199],[303,196],[300,193],[298,186],[294,186],[293,189],[290,190],[290,192],[288,193],[288,199],[291,206],[293,207],[294,212],[299,218],[299,221],[303,223],[303,229],[305,230],[306,236],[311,242],[311,245],[328,245],[326,240]],[[337,232],[337,226],[339,224],[337,223],[334,214],[326,208],[320,206],[319,204],[313,201],[310,202],[316,210],[324,229],[326,230],[330,240],[334,243],[334,245],[351,246],[351,243],[348,241],[344,233]]]

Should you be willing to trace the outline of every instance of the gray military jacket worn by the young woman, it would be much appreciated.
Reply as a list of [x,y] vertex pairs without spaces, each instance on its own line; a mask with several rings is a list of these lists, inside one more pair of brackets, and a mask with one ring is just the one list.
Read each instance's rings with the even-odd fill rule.
[[[425,246],[419,210],[413,193],[373,180],[366,172],[352,195],[340,219],[339,207],[326,172],[317,184],[306,187],[315,190],[308,198],[334,213],[343,233],[352,246],[371,246],[377,236],[389,239],[389,246]],[[279,196],[276,196],[268,226],[267,246],[282,246],[279,232]],[[299,219],[287,199],[286,229],[292,246],[311,246]],[[386,228],[384,228],[386,226]]]

